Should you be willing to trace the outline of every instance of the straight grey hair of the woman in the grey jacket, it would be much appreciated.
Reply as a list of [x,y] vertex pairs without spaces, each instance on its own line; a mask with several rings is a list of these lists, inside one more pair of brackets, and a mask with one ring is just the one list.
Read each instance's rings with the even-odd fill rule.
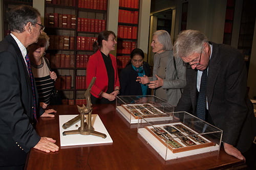
[[158,30],[153,33],[153,36],[157,36],[158,41],[163,45],[164,51],[173,50],[172,39],[170,39],[170,34],[165,30]]

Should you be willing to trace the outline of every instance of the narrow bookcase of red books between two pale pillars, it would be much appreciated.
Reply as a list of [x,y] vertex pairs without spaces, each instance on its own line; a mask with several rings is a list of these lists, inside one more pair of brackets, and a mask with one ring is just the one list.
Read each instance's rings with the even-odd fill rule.
[[130,61],[131,51],[137,47],[139,0],[119,0],[117,67],[122,69]]

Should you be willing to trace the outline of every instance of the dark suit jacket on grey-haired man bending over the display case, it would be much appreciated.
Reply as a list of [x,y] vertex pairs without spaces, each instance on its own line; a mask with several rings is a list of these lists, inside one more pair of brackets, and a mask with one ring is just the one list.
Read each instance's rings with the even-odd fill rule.
[[[214,125],[223,130],[223,141],[241,152],[249,149],[256,134],[253,106],[246,92],[247,70],[241,53],[224,44],[212,43],[208,65],[208,111]],[[197,70],[187,69],[187,85],[176,111],[196,115]]]

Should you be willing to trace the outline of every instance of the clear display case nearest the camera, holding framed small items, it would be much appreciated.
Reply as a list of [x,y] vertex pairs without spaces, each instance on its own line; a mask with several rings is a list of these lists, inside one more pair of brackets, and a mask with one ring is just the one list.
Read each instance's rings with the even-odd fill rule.
[[219,151],[223,131],[187,112],[166,113],[161,121],[143,120],[138,133],[164,159]]

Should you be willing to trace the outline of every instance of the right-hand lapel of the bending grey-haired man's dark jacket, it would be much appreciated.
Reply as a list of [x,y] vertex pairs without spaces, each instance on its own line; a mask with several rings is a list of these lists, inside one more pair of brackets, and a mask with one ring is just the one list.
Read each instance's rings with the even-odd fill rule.
[[214,86],[220,71],[220,61],[221,61],[220,57],[221,56],[219,54],[218,45],[215,43],[212,43],[212,55],[208,65],[209,69],[208,69],[208,79],[207,79],[207,89],[206,89],[208,106],[210,106],[212,95],[214,93]]

